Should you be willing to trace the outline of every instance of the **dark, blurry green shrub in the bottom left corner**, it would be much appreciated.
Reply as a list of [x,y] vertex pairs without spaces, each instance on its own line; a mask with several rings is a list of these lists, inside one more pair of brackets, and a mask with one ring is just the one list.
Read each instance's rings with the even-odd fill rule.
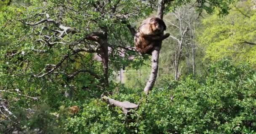
[[27,110],[17,109],[12,116],[12,121],[4,122],[6,126],[9,126],[8,129],[2,128],[1,131],[4,134],[12,134],[9,130],[9,128],[12,128],[18,131],[19,134],[68,134],[63,128],[67,117],[67,110],[64,108],[61,108],[57,115],[51,113],[51,108],[46,104],[40,104],[32,115]]

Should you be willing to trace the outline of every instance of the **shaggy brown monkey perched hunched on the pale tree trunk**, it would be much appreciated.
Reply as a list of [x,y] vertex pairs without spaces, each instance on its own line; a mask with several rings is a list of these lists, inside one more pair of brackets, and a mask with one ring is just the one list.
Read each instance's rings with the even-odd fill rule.
[[156,46],[159,41],[163,41],[170,36],[169,33],[162,35],[165,30],[166,25],[164,21],[158,17],[151,17],[142,21],[138,32],[134,36],[136,50],[141,54],[151,55],[153,47]]

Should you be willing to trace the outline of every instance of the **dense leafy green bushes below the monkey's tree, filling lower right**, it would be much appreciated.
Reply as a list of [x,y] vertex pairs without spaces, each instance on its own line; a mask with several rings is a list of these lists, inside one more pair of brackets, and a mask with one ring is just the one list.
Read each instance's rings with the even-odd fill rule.
[[[198,79],[187,77],[155,88],[149,96],[122,86],[112,98],[140,102],[126,116],[100,99],[88,100],[66,119],[72,134],[240,134],[256,130],[256,71],[222,61]],[[38,122],[40,123],[40,122]]]

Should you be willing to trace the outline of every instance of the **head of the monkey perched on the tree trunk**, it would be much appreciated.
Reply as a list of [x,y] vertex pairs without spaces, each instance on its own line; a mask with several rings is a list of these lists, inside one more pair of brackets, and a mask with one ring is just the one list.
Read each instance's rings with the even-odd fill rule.
[[152,17],[149,21],[150,28],[154,33],[162,33],[166,30],[166,25],[162,19],[158,17]]

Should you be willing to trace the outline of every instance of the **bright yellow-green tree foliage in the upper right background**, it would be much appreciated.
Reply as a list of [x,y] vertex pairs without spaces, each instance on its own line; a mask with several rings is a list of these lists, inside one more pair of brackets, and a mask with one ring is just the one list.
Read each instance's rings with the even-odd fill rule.
[[[240,62],[256,63],[255,18],[251,0],[232,6],[229,15],[219,18],[217,14],[203,19],[205,29],[199,41],[205,48],[205,59],[218,61],[231,58]],[[250,44],[252,43],[252,44]]]

